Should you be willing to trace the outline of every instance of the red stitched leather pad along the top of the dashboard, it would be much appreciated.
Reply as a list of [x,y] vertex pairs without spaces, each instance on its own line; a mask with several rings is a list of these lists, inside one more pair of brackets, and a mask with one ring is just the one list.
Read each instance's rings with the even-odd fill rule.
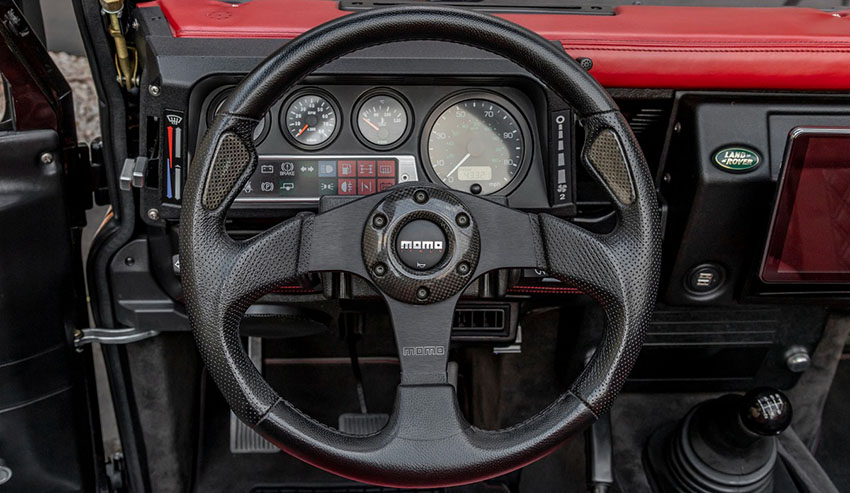
[[[333,0],[156,0],[175,37],[293,38],[346,12]],[[593,60],[608,87],[850,89],[850,11],[625,6],[613,16],[505,19]]]

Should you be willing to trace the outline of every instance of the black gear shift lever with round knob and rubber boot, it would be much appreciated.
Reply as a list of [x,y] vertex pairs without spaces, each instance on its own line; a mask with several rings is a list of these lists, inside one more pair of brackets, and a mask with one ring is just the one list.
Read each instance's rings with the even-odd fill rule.
[[662,492],[768,492],[776,435],[791,424],[791,403],[761,387],[698,404],[647,444],[647,466]]

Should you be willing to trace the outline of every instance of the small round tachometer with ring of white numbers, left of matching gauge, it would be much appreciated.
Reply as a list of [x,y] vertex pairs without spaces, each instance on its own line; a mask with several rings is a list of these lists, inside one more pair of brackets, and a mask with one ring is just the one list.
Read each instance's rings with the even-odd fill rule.
[[298,147],[315,149],[336,137],[338,115],[338,106],[330,95],[307,90],[287,101],[280,125],[290,142]]

